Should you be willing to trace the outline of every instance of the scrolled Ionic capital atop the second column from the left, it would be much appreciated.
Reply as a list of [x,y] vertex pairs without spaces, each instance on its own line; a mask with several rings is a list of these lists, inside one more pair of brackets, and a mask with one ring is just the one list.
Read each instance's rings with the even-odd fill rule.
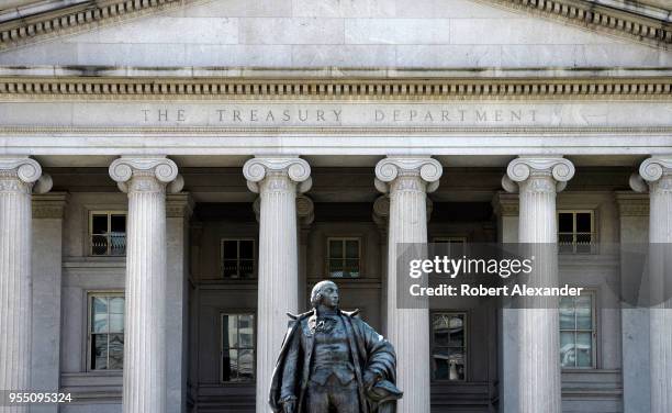
[[[184,180],[177,165],[165,156],[122,156],[110,165],[110,177],[123,192],[164,191],[177,193]],[[143,178],[134,182],[135,178]]]

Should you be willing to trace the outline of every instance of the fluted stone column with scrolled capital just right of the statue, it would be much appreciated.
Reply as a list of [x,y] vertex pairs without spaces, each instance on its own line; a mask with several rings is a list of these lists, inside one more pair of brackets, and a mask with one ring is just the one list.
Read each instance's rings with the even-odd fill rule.
[[429,310],[396,306],[396,248],[427,243],[427,192],[438,188],[441,165],[429,157],[399,156],[376,166],[376,188],[390,193],[387,334],[396,348],[397,412],[429,412]]

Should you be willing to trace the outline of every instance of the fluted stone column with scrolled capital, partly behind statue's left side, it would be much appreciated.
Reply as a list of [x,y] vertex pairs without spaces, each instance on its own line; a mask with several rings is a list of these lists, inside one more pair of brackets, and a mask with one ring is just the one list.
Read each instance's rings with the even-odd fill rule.
[[243,175],[259,193],[257,413],[267,413],[285,313],[299,310],[296,194],[311,188],[311,167],[299,157],[265,156],[249,159]]

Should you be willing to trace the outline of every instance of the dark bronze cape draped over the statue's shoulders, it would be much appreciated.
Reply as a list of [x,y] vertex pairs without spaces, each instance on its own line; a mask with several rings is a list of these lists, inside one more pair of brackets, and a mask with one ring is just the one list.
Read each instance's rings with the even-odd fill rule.
[[[392,345],[371,328],[367,323],[356,315],[359,313],[358,310],[352,312],[340,311],[340,315],[346,325],[350,336],[350,351],[355,361],[356,377],[359,384],[359,393],[362,405],[362,413],[374,412],[380,403],[387,404],[385,409],[381,411],[393,412],[394,406],[391,405],[396,399],[402,397],[402,391],[395,386],[396,382],[396,355]],[[276,362],[276,369],[271,379],[271,388],[269,394],[269,404],[273,412],[282,412],[282,404],[280,402],[280,392],[283,381],[283,370],[287,362],[287,354],[290,348],[290,343],[294,338],[294,334],[302,334],[302,323],[309,325],[314,324],[316,319],[315,311],[309,311],[303,314],[288,314],[290,322],[288,325],[287,334],[280,348],[280,355]],[[311,320],[312,319],[312,320]],[[311,323],[313,321],[313,323]],[[303,362],[307,364],[310,360],[305,359],[306,356],[302,354]],[[295,375],[301,375],[302,369],[293,369]],[[371,389],[365,389],[363,375],[367,371],[378,373],[382,380],[380,380]],[[296,383],[301,383],[302,377],[295,378]],[[301,393],[302,389],[296,389],[298,405],[296,413],[304,412]]]

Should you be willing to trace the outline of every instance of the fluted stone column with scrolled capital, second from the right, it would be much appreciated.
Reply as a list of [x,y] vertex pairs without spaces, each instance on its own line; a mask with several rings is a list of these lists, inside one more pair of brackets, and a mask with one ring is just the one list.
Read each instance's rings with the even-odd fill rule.
[[[574,176],[568,159],[524,156],[508,164],[502,183],[518,192],[518,241],[530,246],[535,270],[528,284],[558,284],[556,194]],[[537,300],[538,299],[538,300]],[[529,301],[529,300],[528,300]],[[560,413],[560,324],[557,298],[534,298],[516,310],[518,346],[517,404],[519,413]]]

